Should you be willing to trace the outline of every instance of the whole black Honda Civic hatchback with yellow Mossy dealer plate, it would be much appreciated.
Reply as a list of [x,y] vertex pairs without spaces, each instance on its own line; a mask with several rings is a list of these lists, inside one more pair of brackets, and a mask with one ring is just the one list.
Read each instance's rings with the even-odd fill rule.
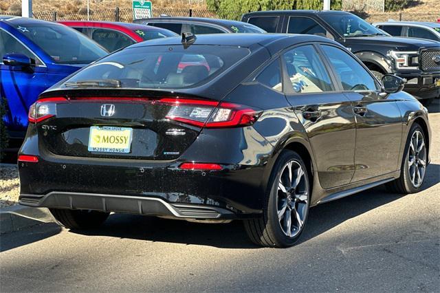
[[111,212],[241,219],[255,243],[292,246],[311,206],[421,189],[428,111],[403,87],[320,36],[137,43],[32,105],[19,201],[72,229]]

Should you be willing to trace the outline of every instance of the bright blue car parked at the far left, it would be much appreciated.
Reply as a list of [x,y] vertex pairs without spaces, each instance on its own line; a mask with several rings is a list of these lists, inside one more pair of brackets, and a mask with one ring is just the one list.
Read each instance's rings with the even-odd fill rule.
[[65,25],[0,16],[0,96],[8,101],[3,119],[10,146],[21,144],[29,107],[41,92],[107,54],[98,43]]

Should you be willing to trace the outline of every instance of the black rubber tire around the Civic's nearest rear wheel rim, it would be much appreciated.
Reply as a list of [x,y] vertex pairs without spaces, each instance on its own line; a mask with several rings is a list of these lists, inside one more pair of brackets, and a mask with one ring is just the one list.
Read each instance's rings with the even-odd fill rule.
[[[298,180],[298,184],[291,184],[291,186],[295,185],[296,187],[291,187],[289,189],[290,191],[294,191],[293,193],[295,193],[295,195],[292,193],[284,199],[285,206],[287,207],[287,209],[290,210],[288,213],[289,215],[291,215],[291,218],[289,220],[289,227],[292,227],[295,232],[295,234],[292,236],[289,236],[286,234],[286,232],[284,232],[283,229],[285,229],[286,227],[281,228],[281,221],[283,221],[283,223],[285,224],[285,219],[288,219],[288,217],[286,216],[287,213],[284,214],[284,217],[278,217],[278,211],[280,211],[278,210],[278,208],[280,208],[279,203],[280,201],[283,202],[283,199],[280,196],[281,189],[279,189],[278,187],[278,182],[281,182],[281,176],[285,177],[285,168],[289,168],[289,162],[292,162],[290,168],[292,168],[291,170],[295,171],[294,175],[296,177],[298,177],[297,175],[299,173],[299,166],[303,170],[303,177],[301,177],[303,179]],[[297,169],[293,169],[294,164]],[[287,170],[287,173],[288,172],[289,170]],[[290,178],[287,177],[287,182],[292,183],[292,178],[294,177],[294,175],[292,175],[292,177]],[[248,236],[250,237],[252,242],[256,243],[259,246],[283,248],[293,246],[294,243],[298,241],[298,238],[305,228],[307,217],[309,214],[308,212],[311,193],[309,182],[309,172],[307,171],[304,161],[300,157],[300,155],[298,155],[298,153],[294,151],[283,151],[278,157],[278,160],[276,161],[270,175],[265,200],[263,203],[264,208],[262,217],[257,219],[248,219],[244,221],[245,230],[248,233]],[[283,191],[281,191],[281,193],[283,195],[287,195],[287,193],[283,193]],[[303,199],[295,198],[297,196],[302,197]],[[305,201],[306,198],[307,202]],[[298,208],[292,209],[292,206],[298,206]],[[287,209],[284,208],[286,212]],[[281,207],[281,210],[283,210],[283,207]],[[303,216],[303,221],[301,221],[302,224],[299,224],[300,221],[297,217],[292,218],[292,216],[294,215],[296,215],[297,217]],[[294,221],[296,221],[296,227],[294,226]],[[289,234],[291,234],[292,229],[289,229]]]

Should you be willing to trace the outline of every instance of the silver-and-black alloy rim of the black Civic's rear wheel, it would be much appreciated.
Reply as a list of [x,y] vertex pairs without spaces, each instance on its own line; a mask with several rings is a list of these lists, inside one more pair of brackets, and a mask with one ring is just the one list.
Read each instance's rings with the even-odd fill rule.
[[291,160],[283,167],[278,180],[278,222],[288,237],[296,237],[307,218],[309,182],[305,172],[298,161]]

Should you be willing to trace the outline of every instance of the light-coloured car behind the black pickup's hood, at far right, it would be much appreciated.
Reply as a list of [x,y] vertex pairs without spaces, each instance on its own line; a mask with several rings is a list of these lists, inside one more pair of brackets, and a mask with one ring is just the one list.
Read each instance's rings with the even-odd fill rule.
[[440,23],[416,21],[388,21],[373,23],[391,36],[408,36],[409,38],[428,39],[440,42]]

